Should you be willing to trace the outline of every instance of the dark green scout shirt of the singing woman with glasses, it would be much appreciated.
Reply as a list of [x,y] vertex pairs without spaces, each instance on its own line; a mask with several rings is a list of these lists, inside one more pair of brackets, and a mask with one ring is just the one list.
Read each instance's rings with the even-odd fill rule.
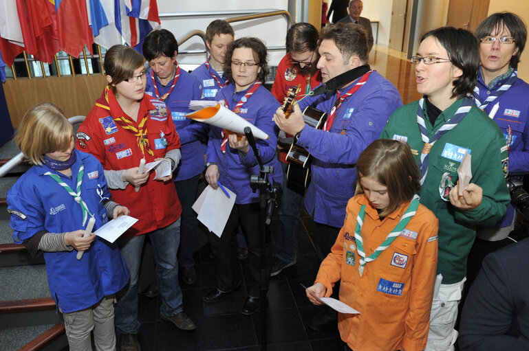
[[[453,117],[462,102],[463,99],[459,99],[444,110],[435,120],[435,126],[431,125],[424,103],[424,124],[430,138]],[[415,161],[420,160],[424,146],[417,123],[418,105],[418,101],[411,102],[393,112],[380,135],[381,138],[406,141]],[[457,182],[457,168],[465,151],[472,156],[471,183],[483,189],[482,203],[467,211],[458,210],[440,195],[444,192],[443,175],[451,177],[453,184]],[[476,106],[472,106],[455,128],[433,144],[420,202],[439,219],[438,273],[443,275],[443,284],[460,282],[465,277],[466,259],[475,239],[476,225],[494,225],[504,216],[510,201],[505,181],[507,163],[504,135],[497,124]]]

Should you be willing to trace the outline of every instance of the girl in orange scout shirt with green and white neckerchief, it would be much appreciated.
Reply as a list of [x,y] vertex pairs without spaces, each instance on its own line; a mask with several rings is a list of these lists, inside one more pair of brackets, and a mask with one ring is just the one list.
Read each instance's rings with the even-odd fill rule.
[[338,314],[346,350],[424,350],[438,256],[438,219],[416,195],[419,172],[407,144],[378,139],[356,163],[356,195],[345,222],[307,288],[340,300],[359,314]]

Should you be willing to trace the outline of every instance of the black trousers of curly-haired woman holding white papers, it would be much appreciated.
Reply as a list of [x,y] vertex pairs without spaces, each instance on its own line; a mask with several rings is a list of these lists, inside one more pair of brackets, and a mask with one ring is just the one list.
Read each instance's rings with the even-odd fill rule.
[[[215,268],[217,273],[217,288],[219,291],[231,291],[241,282],[241,272],[238,269],[237,244],[235,234],[241,225],[246,242],[248,243],[248,265],[250,275],[248,276],[248,295],[259,297],[261,293],[261,247],[259,245],[259,203],[248,203],[246,205],[233,206],[233,209],[226,223],[226,227],[219,238],[213,233],[208,234],[213,257],[215,258]],[[272,245],[270,242],[270,232],[266,227],[266,282],[268,288],[270,281],[270,256]]]

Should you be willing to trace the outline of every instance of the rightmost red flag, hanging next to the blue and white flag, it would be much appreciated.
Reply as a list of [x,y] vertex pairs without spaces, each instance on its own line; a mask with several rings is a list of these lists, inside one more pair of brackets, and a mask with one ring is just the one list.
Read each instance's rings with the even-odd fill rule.
[[94,36],[88,25],[86,1],[61,0],[57,5],[58,46],[63,52],[79,57],[85,45],[94,54]]

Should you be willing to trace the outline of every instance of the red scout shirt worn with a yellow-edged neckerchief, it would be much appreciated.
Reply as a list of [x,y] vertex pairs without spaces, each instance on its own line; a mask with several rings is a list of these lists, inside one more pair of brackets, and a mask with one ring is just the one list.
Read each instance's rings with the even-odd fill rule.
[[[148,145],[153,155],[148,152],[147,147],[142,152],[137,137],[123,128],[127,124],[119,120],[121,116],[130,120],[138,129],[138,124],[147,116],[143,131],[147,131]],[[165,157],[170,150],[180,148],[171,112],[164,102],[144,95],[140,100],[137,122],[134,122],[122,111],[108,87],[79,127],[77,138],[79,150],[94,155],[105,170],[138,167],[142,157],[149,163]],[[127,206],[131,211],[130,215],[139,219],[124,236],[145,234],[166,227],[180,218],[182,207],[173,182],[155,181],[154,177],[155,172],[151,172],[149,181],[140,187],[139,192],[130,184],[125,190],[110,189],[112,199]]]

